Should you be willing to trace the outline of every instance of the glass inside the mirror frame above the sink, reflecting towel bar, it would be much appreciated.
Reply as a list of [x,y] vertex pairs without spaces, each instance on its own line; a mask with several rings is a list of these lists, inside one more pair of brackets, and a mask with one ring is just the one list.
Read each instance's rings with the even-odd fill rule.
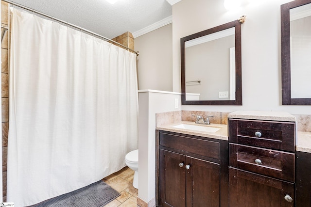
[[235,100],[234,47],[235,28],[185,42],[186,93],[199,100]]

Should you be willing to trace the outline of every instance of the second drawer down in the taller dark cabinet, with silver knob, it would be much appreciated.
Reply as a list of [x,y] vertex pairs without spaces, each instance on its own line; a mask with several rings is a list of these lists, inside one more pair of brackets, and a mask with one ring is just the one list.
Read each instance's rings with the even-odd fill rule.
[[229,165],[294,182],[294,153],[229,143]]

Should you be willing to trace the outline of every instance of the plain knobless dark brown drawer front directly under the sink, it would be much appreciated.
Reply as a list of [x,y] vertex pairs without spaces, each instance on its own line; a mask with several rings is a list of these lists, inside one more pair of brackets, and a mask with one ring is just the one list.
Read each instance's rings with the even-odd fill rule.
[[220,143],[160,131],[160,146],[207,158],[220,159]]

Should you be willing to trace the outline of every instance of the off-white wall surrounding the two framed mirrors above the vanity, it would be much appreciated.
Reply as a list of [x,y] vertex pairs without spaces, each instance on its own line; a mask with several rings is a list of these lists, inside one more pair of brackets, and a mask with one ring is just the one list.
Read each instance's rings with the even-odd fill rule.
[[242,106],[191,106],[183,110],[288,111],[311,114],[311,106],[281,104],[280,5],[292,0],[243,0],[226,11],[223,0],[181,0],[173,5],[173,91],[180,92],[180,38],[247,15],[242,24]]

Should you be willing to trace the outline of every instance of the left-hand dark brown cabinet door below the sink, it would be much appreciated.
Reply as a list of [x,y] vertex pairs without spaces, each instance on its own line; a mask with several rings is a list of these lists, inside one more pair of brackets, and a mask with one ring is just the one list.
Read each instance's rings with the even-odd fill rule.
[[160,149],[162,207],[186,207],[185,155]]

